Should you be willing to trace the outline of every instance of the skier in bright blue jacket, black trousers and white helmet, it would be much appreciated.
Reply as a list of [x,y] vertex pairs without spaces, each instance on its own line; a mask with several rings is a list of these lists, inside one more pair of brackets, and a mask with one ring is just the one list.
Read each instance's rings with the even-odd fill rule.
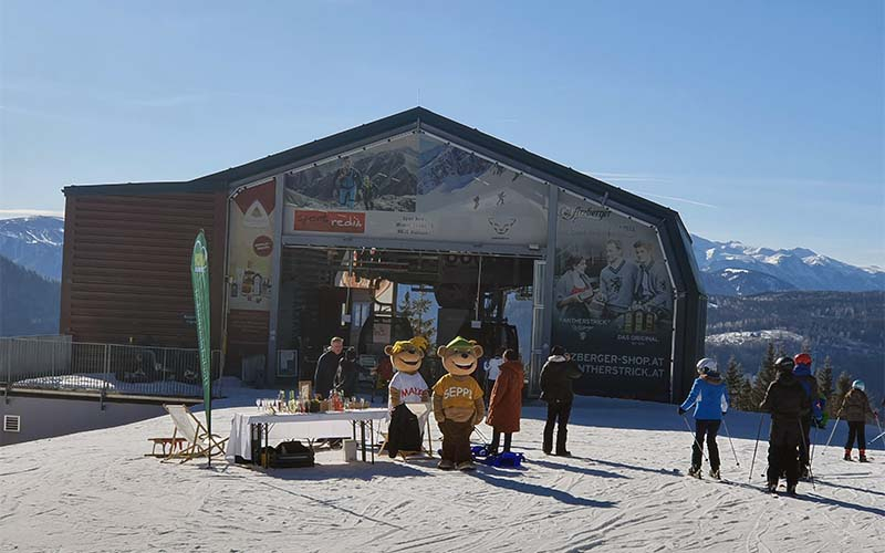
[[698,377],[691,385],[691,392],[679,406],[679,415],[695,406],[695,442],[691,445],[691,468],[688,474],[700,478],[700,462],[704,458],[701,447],[707,438],[707,451],[710,455],[710,477],[719,479],[719,446],[716,434],[728,410],[728,388],[716,365],[716,359],[705,357],[697,364]]

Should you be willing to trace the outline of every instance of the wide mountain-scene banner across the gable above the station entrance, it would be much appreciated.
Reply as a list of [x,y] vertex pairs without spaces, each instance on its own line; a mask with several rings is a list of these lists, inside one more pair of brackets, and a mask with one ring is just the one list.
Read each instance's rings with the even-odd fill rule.
[[285,233],[546,243],[546,186],[426,134],[284,175]]

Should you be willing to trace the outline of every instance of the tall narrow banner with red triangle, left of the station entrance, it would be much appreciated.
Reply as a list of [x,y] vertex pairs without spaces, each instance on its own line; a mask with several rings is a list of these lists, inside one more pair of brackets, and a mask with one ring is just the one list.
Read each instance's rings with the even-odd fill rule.
[[274,248],[274,179],[240,188],[230,202],[228,288],[231,310],[270,311]]

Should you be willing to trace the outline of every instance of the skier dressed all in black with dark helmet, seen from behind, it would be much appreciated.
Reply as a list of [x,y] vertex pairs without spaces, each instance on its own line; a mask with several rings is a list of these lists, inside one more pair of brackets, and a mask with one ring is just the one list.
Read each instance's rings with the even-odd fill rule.
[[802,385],[793,376],[793,359],[780,357],[774,362],[778,378],[772,382],[759,407],[771,414],[771,434],[768,440],[768,491],[778,489],[778,479],[787,472],[787,493],[795,494],[799,481],[798,448],[802,440],[801,419],[808,414],[811,401]]

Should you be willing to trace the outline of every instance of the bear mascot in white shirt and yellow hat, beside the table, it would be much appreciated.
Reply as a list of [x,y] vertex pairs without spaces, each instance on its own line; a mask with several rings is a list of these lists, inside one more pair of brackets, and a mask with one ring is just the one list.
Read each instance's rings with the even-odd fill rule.
[[423,404],[430,398],[424,377],[418,373],[429,343],[424,336],[403,340],[384,347],[391,358],[394,377],[388,385],[391,425],[387,428],[387,453],[391,458],[403,452],[420,452],[421,428],[418,417],[406,404]]

